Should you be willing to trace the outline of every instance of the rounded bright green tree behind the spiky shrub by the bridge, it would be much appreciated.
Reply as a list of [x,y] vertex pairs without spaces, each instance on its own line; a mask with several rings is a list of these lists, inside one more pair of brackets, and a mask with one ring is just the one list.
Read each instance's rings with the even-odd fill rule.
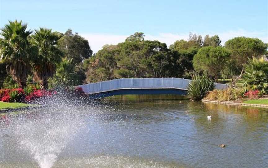
[[226,68],[230,55],[230,51],[221,46],[203,47],[194,55],[194,69],[198,72],[206,72],[217,80]]

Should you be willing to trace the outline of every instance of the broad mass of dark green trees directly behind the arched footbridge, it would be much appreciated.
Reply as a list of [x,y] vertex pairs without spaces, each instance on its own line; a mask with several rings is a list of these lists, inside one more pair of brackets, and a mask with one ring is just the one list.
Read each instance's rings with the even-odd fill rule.
[[[169,77],[174,64],[165,43],[143,39],[135,33],[118,45],[106,45],[89,61],[87,82],[121,77]],[[173,73],[174,74],[174,73]]]

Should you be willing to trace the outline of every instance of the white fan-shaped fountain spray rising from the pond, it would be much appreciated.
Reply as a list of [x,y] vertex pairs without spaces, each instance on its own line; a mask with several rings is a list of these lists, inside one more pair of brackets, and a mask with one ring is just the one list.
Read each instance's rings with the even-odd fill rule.
[[14,131],[20,148],[41,168],[51,168],[69,141],[83,129],[83,117],[66,107],[45,110],[41,115],[19,120]]

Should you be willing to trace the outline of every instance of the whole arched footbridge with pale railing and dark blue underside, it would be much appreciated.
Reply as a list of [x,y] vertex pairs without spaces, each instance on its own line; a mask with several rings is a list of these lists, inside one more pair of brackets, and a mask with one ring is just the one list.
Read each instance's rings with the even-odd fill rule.
[[[94,97],[113,95],[176,94],[186,95],[191,82],[182,78],[122,78],[86,85],[79,85],[83,91]],[[226,84],[215,83],[216,89],[225,89]]]

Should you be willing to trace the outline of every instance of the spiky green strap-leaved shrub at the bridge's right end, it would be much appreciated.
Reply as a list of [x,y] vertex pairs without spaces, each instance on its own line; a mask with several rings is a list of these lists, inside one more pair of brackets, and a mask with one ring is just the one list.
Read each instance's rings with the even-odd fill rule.
[[214,88],[214,83],[207,76],[195,75],[187,87],[188,97],[192,100],[201,100],[208,91],[212,91]]

